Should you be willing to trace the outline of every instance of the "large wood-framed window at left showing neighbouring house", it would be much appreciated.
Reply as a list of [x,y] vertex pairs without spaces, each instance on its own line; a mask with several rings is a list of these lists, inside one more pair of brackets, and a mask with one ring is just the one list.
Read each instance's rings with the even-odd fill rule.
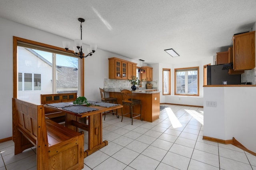
[[40,104],[40,94],[84,95],[84,59],[65,49],[14,37],[14,97]]

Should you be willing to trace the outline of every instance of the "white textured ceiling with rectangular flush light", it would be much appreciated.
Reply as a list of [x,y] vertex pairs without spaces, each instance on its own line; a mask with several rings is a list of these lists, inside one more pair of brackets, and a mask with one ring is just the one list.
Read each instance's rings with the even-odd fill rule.
[[255,26],[256,0],[0,0],[0,17],[71,40],[84,18],[85,44],[148,64],[180,63],[227,51],[234,34]]

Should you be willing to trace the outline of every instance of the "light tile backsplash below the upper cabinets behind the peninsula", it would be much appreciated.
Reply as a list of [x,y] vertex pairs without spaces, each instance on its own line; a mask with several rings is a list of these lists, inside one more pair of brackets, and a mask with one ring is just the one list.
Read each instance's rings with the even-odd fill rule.
[[[157,81],[142,81],[142,87],[139,89],[146,89],[146,84],[152,84],[152,89],[158,89]],[[104,88],[131,88],[132,85],[129,80],[118,79],[104,79]]]

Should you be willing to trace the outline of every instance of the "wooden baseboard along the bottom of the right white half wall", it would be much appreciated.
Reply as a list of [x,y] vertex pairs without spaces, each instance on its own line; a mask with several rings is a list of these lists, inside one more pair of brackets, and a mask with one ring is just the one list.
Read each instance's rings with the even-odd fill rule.
[[247,149],[246,147],[244,147],[244,145],[242,145],[240,142],[238,142],[234,137],[233,139],[230,140],[222,140],[222,139],[218,139],[218,138],[212,138],[212,137],[208,137],[208,136],[203,136],[204,140],[210,140],[212,142],[218,142],[218,143],[222,143],[222,144],[232,144],[254,156],[256,156],[255,152],[252,152],[251,150]]

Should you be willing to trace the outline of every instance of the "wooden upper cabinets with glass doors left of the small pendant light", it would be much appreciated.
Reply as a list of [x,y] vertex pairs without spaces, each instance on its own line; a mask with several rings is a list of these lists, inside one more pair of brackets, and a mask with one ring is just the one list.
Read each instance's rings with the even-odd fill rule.
[[[108,59],[108,78],[109,79],[132,79],[136,76],[136,63],[112,57]],[[134,70],[135,66],[135,70]]]

